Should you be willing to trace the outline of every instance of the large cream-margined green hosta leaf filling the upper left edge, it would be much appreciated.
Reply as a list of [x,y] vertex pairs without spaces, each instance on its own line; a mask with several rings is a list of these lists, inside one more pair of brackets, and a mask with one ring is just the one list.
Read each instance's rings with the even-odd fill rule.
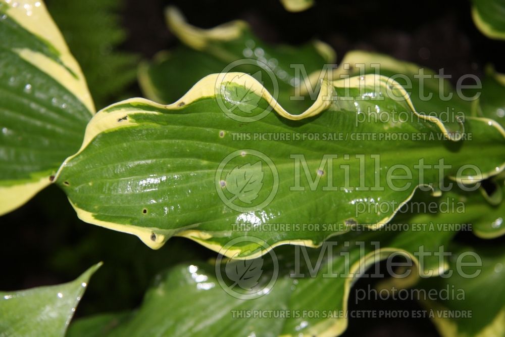
[[0,2],[0,214],[49,184],[94,111],[42,1]]

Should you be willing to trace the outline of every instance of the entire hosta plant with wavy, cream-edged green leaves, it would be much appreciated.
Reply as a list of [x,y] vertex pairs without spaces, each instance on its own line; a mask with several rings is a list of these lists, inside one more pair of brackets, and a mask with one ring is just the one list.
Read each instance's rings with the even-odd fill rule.
[[[472,13],[498,36],[489,4]],[[136,309],[72,322],[101,263],[3,292],[0,335],[335,336],[350,301],[384,292],[417,294],[444,336],[505,335],[502,74],[455,85],[378,53],[337,65],[325,42],[267,43],[241,20],[165,17],[180,44],[140,63],[145,98],[96,112],[45,5],[0,3],[0,214],[54,184],[86,223],[211,256],[159,270]],[[362,277],[379,282],[364,294]]]

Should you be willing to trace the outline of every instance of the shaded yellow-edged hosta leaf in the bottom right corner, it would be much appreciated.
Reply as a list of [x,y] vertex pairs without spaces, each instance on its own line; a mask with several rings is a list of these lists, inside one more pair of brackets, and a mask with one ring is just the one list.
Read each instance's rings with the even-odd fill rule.
[[[479,249],[456,247],[453,253],[468,251],[476,253],[482,266],[472,266],[474,256],[465,256],[460,266],[465,274],[453,273],[448,278],[434,277],[419,284],[424,290],[448,290],[448,299],[425,301],[423,304],[434,311],[433,322],[443,337],[505,336],[505,254],[502,247],[491,246]],[[451,266],[456,268],[456,259]],[[480,270],[480,272],[478,271]],[[474,274],[475,273],[475,274]],[[473,275],[474,277],[468,277]],[[477,275],[477,276],[475,276]],[[455,298],[456,291],[464,291],[464,298]],[[454,298],[453,298],[454,297]],[[451,316],[444,316],[448,311]],[[469,317],[470,316],[470,317]]]

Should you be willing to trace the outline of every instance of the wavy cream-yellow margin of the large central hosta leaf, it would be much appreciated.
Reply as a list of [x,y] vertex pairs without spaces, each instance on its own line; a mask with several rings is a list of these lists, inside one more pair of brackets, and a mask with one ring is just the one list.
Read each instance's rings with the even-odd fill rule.
[[[74,157],[78,156],[91,142],[93,138],[95,138],[98,134],[102,132],[106,132],[109,130],[113,129],[118,129],[118,128],[123,128],[127,126],[134,126],[136,123],[131,119],[131,118],[126,118],[128,115],[135,114],[135,113],[144,113],[144,114],[161,114],[160,112],[156,111],[145,111],[140,108],[137,108],[136,106],[138,105],[150,105],[154,108],[158,109],[166,109],[167,111],[177,111],[180,110],[182,106],[187,106],[188,104],[191,104],[192,102],[195,102],[197,100],[200,100],[202,98],[215,98],[216,95],[221,92],[221,85],[222,83],[234,83],[236,85],[240,86],[245,86],[247,84],[247,88],[251,91],[262,97],[270,106],[273,107],[274,111],[279,114],[280,116],[289,119],[289,120],[301,120],[305,119],[308,117],[312,117],[315,115],[320,114],[321,112],[327,110],[330,105],[333,104],[332,98],[333,98],[333,88],[335,86],[340,86],[340,85],[351,85],[351,86],[357,86],[360,85],[360,83],[374,83],[376,85],[380,86],[385,86],[391,83],[391,80],[388,77],[385,76],[377,76],[375,74],[368,74],[365,75],[364,77],[351,77],[350,79],[345,80],[345,82],[341,81],[335,81],[333,83],[330,83],[326,80],[323,80],[321,84],[321,89],[319,91],[318,97],[316,101],[313,103],[313,105],[307,109],[305,112],[299,114],[299,115],[293,115],[287,112],[284,108],[280,106],[280,104],[277,103],[277,101],[273,98],[271,93],[260,83],[258,80],[256,80],[254,77],[244,74],[244,73],[220,73],[220,74],[212,74],[204,77],[200,81],[198,81],[189,91],[179,100],[176,102],[169,104],[169,105],[161,105],[155,102],[151,102],[145,99],[141,98],[134,98],[134,99],[129,99],[123,102],[119,102],[116,104],[113,104],[101,111],[99,111],[88,123],[86,127],[86,132],[84,135],[84,141],[82,143],[82,146],[80,150],[73,156],[70,156],[65,160],[65,162],[62,164],[60,169],[58,170],[56,174],[55,181],[58,180],[59,175],[62,170],[65,169],[65,166],[67,163]],[[394,84],[394,83],[393,83]],[[399,84],[396,82],[395,86],[396,88],[401,87]],[[414,106],[412,105],[412,102],[410,101],[407,92],[405,89],[397,89],[400,93],[402,93],[403,97],[405,98],[408,106],[412,109],[414,114],[417,114],[416,110],[414,109]],[[421,118],[426,119],[427,121],[433,122],[436,124],[440,130],[444,133],[447,133],[447,130],[445,129],[443,123],[437,119],[436,117],[433,116],[426,116],[426,115],[420,115]],[[482,120],[483,122],[487,123],[487,120],[485,119],[479,119],[475,118],[475,120]],[[501,134],[505,137],[505,131],[501,128],[501,126],[497,123],[495,124],[489,124],[494,126],[495,128],[499,129]],[[485,173],[484,175],[492,175],[492,174],[497,174],[501,172],[505,168],[505,163],[500,166],[499,171],[490,173]],[[475,177],[473,181],[477,179],[481,179],[482,176]],[[470,179],[471,177],[467,177],[467,179]],[[419,186],[417,186],[419,187]],[[415,190],[417,189],[415,187],[411,193],[411,195],[403,202],[408,202],[409,200],[412,199],[414,196]],[[439,190],[433,190],[433,194],[435,196],[439,196],[441,192]],[[161,229],[161,228],[147,228],[147,227],[138,227],[134,225],[124,225],[124,224],[118,224],[118,223],[113,223],[113,222],[107,222],[107,221],[102,221],[98,220],[94,217],[94,215],[90,212],[87,212],[85,210],[82,210],[79,208],[78,205],[72,204],[74,209],[77,212],[78,217],[88,223],[95,224],[98,226],[110,228],[113,230],[125,232],[125,233],[131,233],[136,236],[138,236],[144,244],[146,244],[148,247],[153,248],[153,249],[159,249],[161,248],[166,240],[172,236],[184,236],[187,238],[190,238],[199,244],[212,249],[216,252],[219,252],[222,249],[222,246],[216,243],[213,243],[210,241],[212,238],[212,233],[204,232],[201,230],[186,230],[184,228],[180,228],[179,230],[166,230],[166,229]],[[390,216],[380,220],[376,224],[372,224],[370,227],[373,229],[380,228],[384,226],[386,223],[388,223],[394,215],[398,212],[399,208],[401,207],[398,206]],[[340,233],[334,233],[334,235],[338,235]],[[334,236],[330,235],[327,238]],[[256,253],[253,255],[249,255],[246,257],[238,257],[238,258],[243,258],[243,259],[252,259],[256,258],[259,256],[262,256],[263,254],[267,253],[269,250],[280,246],[280,245],[287,245],[287,244],[294,244],[294,245],[305,245],[308,247],[320,247],[322,243],[314,243],[312,240],[288,240],[288,241],[282,241],[278,242],[274,245],[272,245],[268,250],[263,250],[263,251],[255,251]],[[232,249],[227,250],[225,255],[228,257],[234,257],[237,258],[236,254],[239,251],[234,251]]]

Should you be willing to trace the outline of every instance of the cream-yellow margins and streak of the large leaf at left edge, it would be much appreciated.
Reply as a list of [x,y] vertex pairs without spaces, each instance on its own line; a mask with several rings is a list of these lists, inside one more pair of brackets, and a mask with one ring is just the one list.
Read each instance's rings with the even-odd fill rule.
[[[47,12],[44,3],[39,0],[2,1],[2,5],[7,6],[7,15],[33,35],[52,44],[60,53],[62,63],[77,75],[77,78],[64,66],[43,54],[29,49],[18,49],[14,52],[60,82],[85,105],[91,114],[94,114],[95,108],[84,75],[77,61],[70,54],[61,32]],[[45,176],[34,181],[20,182],[17,185],[0,186],[0,215],[20,207],[50,183],[49,176]]]

